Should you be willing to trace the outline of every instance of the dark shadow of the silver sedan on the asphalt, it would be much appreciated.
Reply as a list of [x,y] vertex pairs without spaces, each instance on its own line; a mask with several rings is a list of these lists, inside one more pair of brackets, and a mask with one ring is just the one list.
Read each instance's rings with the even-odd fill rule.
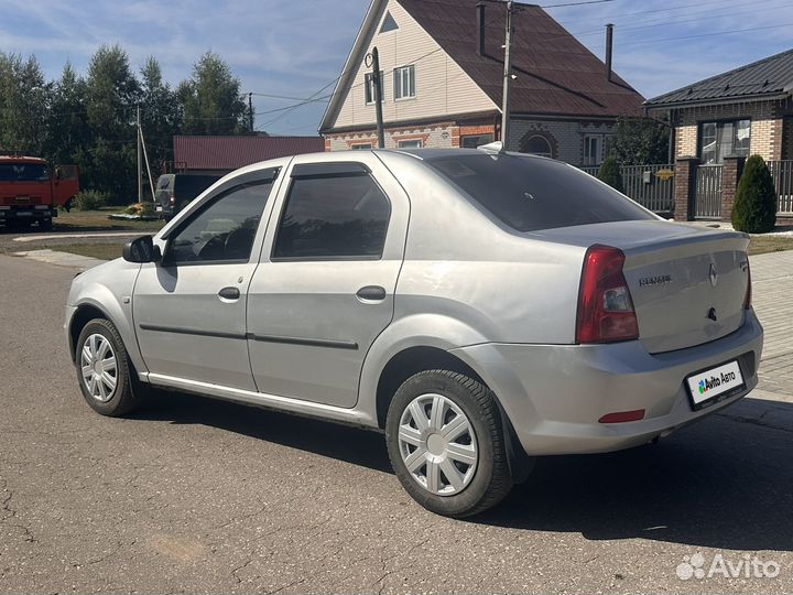
[[[467,522],[793,551],[793,404],[773,408],[776,426],[767,423],[768,401],[746,399],[656,445],[542,457],[525,484]],[[368,430],[182,393],[166,393],[135,418],[210,425],[391,473],[382,434]]]

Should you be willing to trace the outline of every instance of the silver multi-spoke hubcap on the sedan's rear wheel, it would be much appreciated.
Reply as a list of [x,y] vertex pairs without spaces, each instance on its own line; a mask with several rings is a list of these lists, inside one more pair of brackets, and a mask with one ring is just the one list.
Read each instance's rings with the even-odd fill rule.
[[443,394],[422,394],[402,412],[402,462],[427,491],[452,496],[474,478],[478,452],[474,428],[463,410]]

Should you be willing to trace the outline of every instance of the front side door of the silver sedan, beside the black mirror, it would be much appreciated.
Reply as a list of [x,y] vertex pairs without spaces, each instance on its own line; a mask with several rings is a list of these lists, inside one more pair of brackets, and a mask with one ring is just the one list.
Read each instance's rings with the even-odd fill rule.
[[143,264],[133,316],[155,383],[160,376],[254,390],[246,307],[275,173],[219,188],[169,234],[162,262]]

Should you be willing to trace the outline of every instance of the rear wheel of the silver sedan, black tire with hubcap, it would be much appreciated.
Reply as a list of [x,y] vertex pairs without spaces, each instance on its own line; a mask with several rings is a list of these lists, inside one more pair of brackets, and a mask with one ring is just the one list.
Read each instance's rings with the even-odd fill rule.
[[405,380],[389,405],[385,442],[402,487],[432,512],[470,517],[512,488],[496,397],[461,374],[428,370]]

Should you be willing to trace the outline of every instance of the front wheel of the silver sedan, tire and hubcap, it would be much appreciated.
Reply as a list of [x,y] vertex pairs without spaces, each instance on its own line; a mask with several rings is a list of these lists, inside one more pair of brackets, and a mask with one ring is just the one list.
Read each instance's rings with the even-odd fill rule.
[[[115,369],[108,359],[111,355]],[[99,366],[96,365],[98,361]],[[91,370],[84,374],[84,366],[91,366]],[[112,418],[124,415],[142,401],[144,388],[134,377],[121,335],[110,321],[94,318],[83,327],[75,346],[75,367],[83,397],[97,413]],[[107,377],[100,377],[101,372],[107,372]],[[95,378],[96,382],[89,378]],[[110,378],[115,383],[109,381]]]

